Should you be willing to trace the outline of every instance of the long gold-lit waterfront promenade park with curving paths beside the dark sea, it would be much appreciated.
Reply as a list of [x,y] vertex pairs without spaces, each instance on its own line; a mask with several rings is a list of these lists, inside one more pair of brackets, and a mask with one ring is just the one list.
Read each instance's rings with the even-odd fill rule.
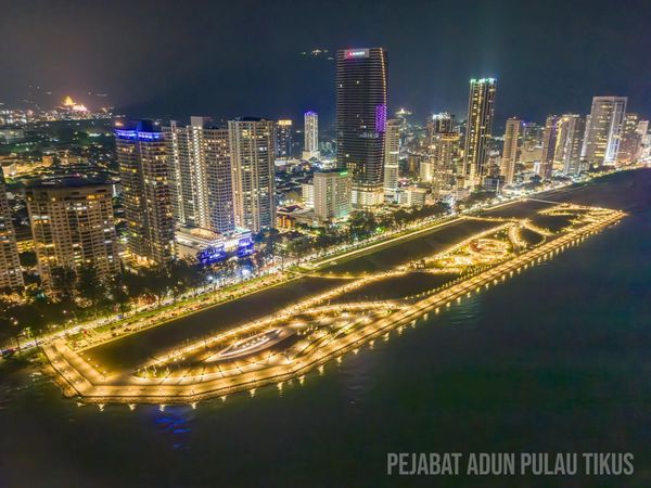
[[[535,209],[527,210],[526,217],[509,216],[527,205]],[[511,207],[515,210],[510,213]],[[254,396],[266,385],[282,389],[295,381],[302,384],[309,373],[323,374],[345,355],[372,348],[375,341],[388,341],[394,331],[403,333],[431,313],[443,313],[472,294],[552,259],[624,216],[573,204],[516,202],[506,210],[458,217],[456,221],[485,228],[441,252],[387,269],[346,271],[341,257],[295,267],[288,271],[294,278],[306,275],[330,286],[241,325],[156,350],[132,368],[103,364],[93,355],[97,344],[60,339],[43,349],[64,394],[100,408],[106,403],[196,406],[239,391]],[[446,226],[432,232],[446,232]],[[416,293],[395,286],[396,280],[414,275],[439,280]],[[369,299],[365,291],[379,285],[390,292]],[[169,326],[159,325],[161,331]],[[139,334],[130,338],[137,342]],[[119,347],[125,339],[106,341]]]

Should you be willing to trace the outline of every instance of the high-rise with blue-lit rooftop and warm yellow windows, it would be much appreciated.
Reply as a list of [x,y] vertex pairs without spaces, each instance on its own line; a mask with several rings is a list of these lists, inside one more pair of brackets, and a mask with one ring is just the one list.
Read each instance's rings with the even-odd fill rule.
[[163,132],[141,120],[132,129],[115,129],[115,143],[130,257],[164,265],[174,257],[175,224]]

